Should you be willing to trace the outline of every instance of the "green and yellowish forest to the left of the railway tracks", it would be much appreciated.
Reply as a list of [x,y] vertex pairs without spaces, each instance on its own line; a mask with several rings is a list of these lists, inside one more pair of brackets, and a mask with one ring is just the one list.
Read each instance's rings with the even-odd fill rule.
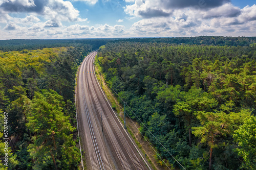
[[[8,169],[78,168],[75,76],[91,49],[77,44],[0,52],[0,156],[5,156],[2,137],[8,125]],[[7,169],[4,163],[0,169]]]

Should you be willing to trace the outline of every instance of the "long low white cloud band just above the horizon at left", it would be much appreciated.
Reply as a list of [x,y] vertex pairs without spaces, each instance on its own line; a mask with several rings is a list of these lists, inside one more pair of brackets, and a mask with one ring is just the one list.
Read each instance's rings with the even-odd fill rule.
[[[61,26],[57,25],[60,23],[52,22],[48,20],[46,22],[37,22],[31,27],[20,27],[14,22],[8,23],[4,28],[4,31],[10,32],[8,39],[12,38],[95,38],[95,37],[123,37],[127,36],[127,31],[122,25],[110,26],[108,24],[94,26],[79,25],[76,23],[71,26]],[[3,32],[0,35],[5,37]]]

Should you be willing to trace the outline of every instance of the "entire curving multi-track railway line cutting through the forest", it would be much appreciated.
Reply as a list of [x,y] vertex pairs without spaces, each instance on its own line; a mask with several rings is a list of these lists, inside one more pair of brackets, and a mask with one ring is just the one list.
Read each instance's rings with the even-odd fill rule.
[[148,169],[119,122],[95,76],[96,52],[82,62],[77,78],[78,126],[88,169]]

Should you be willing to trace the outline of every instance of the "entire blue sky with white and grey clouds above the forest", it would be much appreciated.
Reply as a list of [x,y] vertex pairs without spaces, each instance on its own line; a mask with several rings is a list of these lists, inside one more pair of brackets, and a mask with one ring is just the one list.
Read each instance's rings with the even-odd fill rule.
[[0,39],[256,36],[256,0],[0,0]]

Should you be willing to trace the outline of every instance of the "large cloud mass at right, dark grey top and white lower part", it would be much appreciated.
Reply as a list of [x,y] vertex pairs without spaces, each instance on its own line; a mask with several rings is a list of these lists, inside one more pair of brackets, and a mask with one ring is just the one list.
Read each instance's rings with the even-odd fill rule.
[[124,11],[141,18],[131,27],[140,36],[255,36],[256,31],[256,5],[240,9],[228,0],[135,0]]

